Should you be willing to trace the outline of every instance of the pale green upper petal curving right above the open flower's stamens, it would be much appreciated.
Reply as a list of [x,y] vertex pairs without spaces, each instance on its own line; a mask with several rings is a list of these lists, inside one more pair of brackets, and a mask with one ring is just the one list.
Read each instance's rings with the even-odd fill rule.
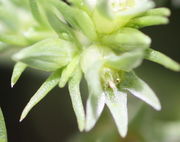
[[105,58],[105,64],[117,70],[131,71],[141,64],[143,57],[143,50],[135,50],[120,55],[107,56]]

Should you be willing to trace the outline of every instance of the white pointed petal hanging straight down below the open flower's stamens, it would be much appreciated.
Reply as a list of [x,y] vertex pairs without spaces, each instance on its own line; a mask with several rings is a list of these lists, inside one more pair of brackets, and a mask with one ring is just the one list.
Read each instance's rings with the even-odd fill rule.
[[106,93],[106,104],[115,120],[119,133],[122,137],[125,137],[128,129],[127,94],[117,90]]

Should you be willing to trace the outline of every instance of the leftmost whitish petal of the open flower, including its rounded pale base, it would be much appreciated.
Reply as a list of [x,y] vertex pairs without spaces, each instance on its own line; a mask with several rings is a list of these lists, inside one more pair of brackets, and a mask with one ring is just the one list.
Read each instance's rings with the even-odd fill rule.
[[97,46],[88,47],[81,57],[81,68],[89,90],[89,97],[86,104],[85,128],[86,131],[89,131],[96,124],[105,105],[105,96],[99,75],[103,61],[102,53]]

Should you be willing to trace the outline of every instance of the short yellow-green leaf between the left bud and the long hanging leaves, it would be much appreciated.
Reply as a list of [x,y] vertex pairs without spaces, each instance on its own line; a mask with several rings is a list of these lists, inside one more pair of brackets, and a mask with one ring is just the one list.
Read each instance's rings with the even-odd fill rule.
[[72,76],[74,73],[75,69],[79,65],[79,56],[74,57],[74,59],[69,63],[69,65],[63,70],[61,78],[59,80],[59,87],[63,88],[69,78]]

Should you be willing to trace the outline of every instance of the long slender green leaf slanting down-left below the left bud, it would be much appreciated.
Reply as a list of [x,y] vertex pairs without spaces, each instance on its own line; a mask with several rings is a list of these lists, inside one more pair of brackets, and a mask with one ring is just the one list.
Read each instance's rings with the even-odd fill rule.
[[22,121],[29,111],[40,102],[59,82],[59,78],[61,75],[61,70],[55,71],[49,78],[41,85],[38,91],[34,94],[34,96],[30,99],[25,109],[22,112],[20,121]]

